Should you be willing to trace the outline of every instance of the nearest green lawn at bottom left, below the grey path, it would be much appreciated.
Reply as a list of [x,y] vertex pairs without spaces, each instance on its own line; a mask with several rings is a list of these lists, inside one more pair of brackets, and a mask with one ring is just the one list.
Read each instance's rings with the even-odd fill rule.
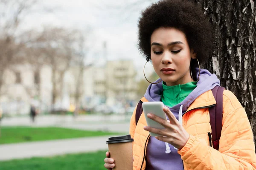
[[106,170],[106,151],[0,161],[1,170]]

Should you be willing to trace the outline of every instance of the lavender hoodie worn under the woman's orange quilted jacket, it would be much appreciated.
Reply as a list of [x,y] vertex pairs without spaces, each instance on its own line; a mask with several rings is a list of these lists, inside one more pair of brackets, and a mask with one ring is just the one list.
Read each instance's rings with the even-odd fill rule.
[[[160,79],[156,80],[156,82],[159,80]],[[212,90],[215,86],[220,86],[220,81],[217,76],[207,70],[200,69],[197,87],[181,103],[169,109],[182,124],[182,115],[189,108],[189,105],[194,102],[198,96]],[[149,102],[160,101],[162,93],[163,86],[162,82],[160,82],[156,85],[149,85],[144,96]],[[171,152],[166,153],[168,149],[171,150]],[[146,152],[146,170],[166,170],[167,167],[168,170],[183,170],[183,161],[177,153],[177,149],[171,144],[159,141],[150,136]]]

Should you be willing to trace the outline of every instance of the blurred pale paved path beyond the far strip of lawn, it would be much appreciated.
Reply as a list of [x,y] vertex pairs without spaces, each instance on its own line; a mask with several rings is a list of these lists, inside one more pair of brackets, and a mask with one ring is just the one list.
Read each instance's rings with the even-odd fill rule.
[[130,123],[122,115],[113,116],[40,116],[32,123],[29,117],[14,117],[3,119],[1,126],[31,126],[31,127],[66,127],[80,130],[97,130],[111,132],[129,132]]

